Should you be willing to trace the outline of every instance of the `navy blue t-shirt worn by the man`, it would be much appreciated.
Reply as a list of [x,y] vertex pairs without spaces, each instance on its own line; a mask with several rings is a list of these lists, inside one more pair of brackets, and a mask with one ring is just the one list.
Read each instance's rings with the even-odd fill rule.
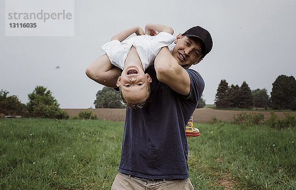
[[[126,109],[119,171],[150,179],[185,179],[187,139],[185,125],[204,90],[202,77],[186,69],[190,77],[189,95],[181,95],[150,75],[151,101],[144,108]],[[178,81],[176,81],[178,82]]]

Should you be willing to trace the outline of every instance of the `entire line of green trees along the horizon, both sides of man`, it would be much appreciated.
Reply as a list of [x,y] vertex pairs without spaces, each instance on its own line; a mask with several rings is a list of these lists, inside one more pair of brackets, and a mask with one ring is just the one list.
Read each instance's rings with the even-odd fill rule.
[[[241,86],[228,85],[222,79],[215,95],[215,104],[218,108],[250,108],[270,107],[272,109],[296,110],[296,80],[293,76],[280,75],[272,83],[272,92],[267,95],[267,90],[251,90],[246,81]],[[21,115],[23,117],[68,119],[66,111],[61,110],[58,101],[45,87],[37,86],[28,95],[27,104],[21,103],[16,95],[8,95],[9,92],[0,91],[0,116]],[[204,98],[201,98],[197,108],[205,106]],[[113,88],[103,87],[96,94],[95,108],[125,108],[120,93]],[[87,113],[89,115],[89,113]],[[81,116],[82,117],[82,116]],[[82,117],[83,118],[83,117]]]

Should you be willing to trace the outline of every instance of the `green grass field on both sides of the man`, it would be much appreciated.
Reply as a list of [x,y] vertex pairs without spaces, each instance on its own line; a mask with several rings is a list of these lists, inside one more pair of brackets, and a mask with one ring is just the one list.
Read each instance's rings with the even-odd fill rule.
[[[296,189],[296,128],[194,124],[188,138],[195,189]],[[0,189],[110,189],[123,122],[0,120]]]

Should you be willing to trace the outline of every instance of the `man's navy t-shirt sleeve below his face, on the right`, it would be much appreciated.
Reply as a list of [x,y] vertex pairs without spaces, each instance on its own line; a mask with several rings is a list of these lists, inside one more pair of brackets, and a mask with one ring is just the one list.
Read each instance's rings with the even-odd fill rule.
[[185,69],[190,77],[190,92],[189,95],[185,95],[185,99],[189,100],[193,104],[198,104],[201,98],[202,92],[205,88],[205,82],[198,72],[193,69]]

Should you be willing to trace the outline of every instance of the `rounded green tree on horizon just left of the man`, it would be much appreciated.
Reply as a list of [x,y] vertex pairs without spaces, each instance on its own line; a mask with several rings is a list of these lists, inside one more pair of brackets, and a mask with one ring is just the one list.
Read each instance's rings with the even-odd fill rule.
[[124,108],[120,92],[115,91],[113,88],[103,87],[96,94],[94,101],[95,108]]

